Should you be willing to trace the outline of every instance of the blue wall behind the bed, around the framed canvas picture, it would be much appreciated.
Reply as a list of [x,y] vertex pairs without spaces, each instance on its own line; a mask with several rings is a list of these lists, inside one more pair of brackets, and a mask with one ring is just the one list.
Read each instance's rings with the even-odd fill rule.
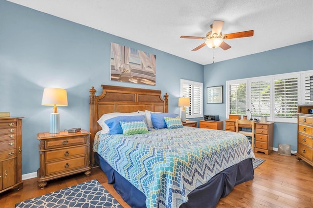
[[[156,55],[156,86],[110,81],[111,42]],[[39,167],[38,132],[49,131],[52,107],[42,106],[45,87],[67,89],[58,107],[61,129],[89,130],[89,89],[101,84],[161,90],[169,111],[179,113],[180,79],[203,83],[203,66],[5,0],[0,0],[0,112],[24,116],[22,174]]]

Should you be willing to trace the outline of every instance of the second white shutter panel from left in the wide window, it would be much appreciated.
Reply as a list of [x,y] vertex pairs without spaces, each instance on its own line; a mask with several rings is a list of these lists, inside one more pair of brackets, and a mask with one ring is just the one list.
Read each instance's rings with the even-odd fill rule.
[[252,116],[266,116],[270,113],[270,81],[250,83],[250,111]]

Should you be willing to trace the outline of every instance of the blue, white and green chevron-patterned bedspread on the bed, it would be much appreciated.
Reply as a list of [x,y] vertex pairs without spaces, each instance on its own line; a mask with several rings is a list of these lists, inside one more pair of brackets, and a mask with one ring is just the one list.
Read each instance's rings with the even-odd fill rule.
[[255,159],[242,134],[187,126],[131,136],[98,132],[94,151],[146,195],[148,208],[178,208],[217,173]]

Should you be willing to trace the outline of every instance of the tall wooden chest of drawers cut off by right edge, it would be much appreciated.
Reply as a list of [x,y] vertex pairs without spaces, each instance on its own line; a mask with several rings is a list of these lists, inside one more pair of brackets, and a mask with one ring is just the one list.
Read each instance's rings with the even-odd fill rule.
[[298,160],[304,160],[313,166],[313,114],[309,114],[313,105],[298,105]]

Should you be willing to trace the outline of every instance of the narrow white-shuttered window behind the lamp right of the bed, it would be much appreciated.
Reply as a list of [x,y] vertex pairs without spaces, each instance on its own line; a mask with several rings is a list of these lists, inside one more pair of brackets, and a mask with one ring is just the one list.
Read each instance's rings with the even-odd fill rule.
[[203,117],[203,83],[180,79],[180,97],[190,98],[186,118]]

